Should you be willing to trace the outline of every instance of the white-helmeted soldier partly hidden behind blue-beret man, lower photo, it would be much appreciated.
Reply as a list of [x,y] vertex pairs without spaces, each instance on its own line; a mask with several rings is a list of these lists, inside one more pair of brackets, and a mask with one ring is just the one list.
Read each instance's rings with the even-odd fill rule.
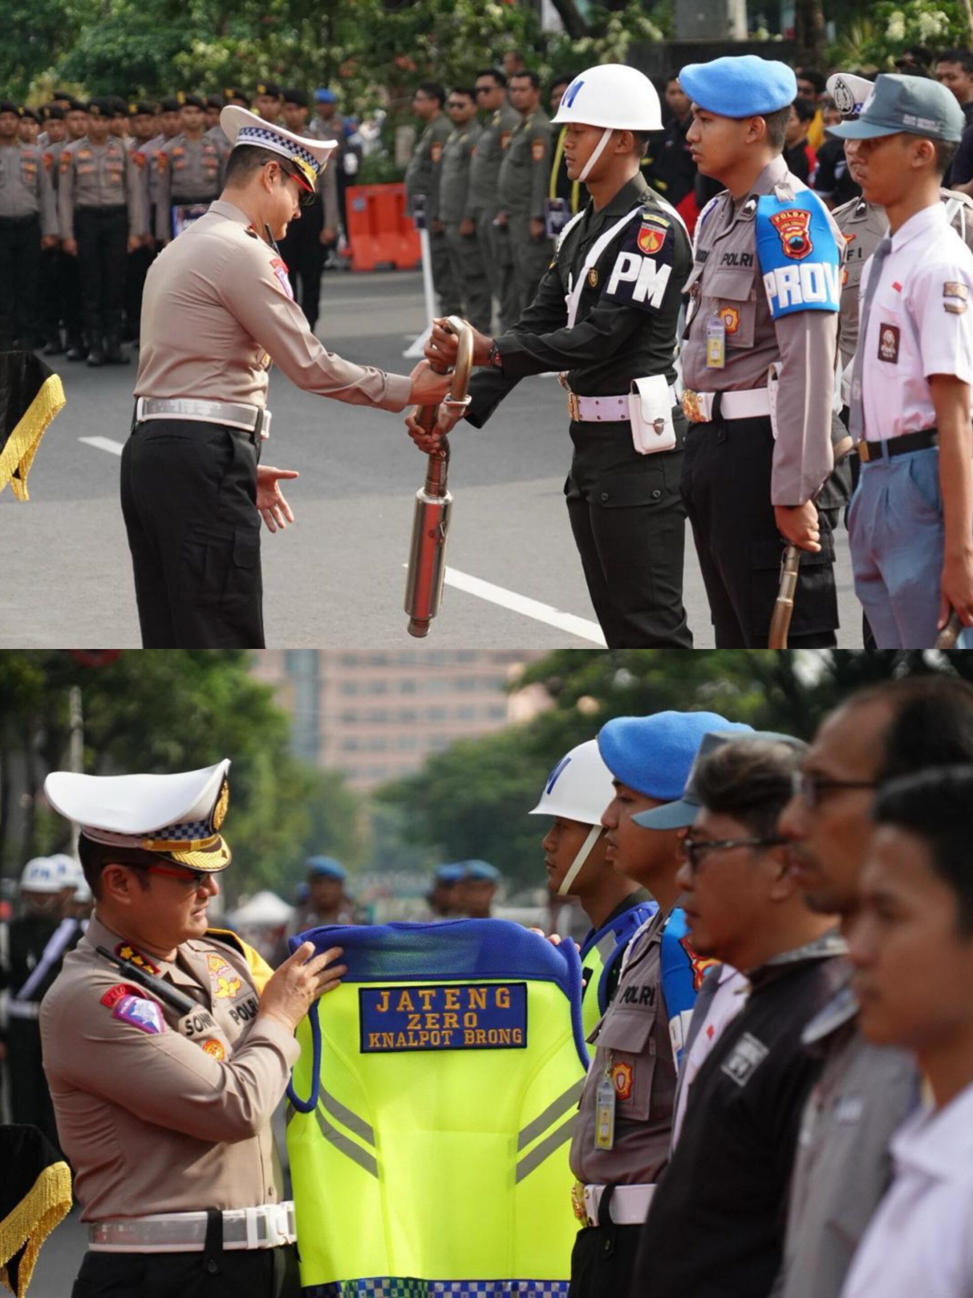
[[585,1036],[608,1009],[628,944],[659,909],[645,888],[606,861],[602,813],[615,797],[611,779],[598,741],[590,739],[562,757],[531,811],[551,816],[541,842],[547,888],[555,897],[577,897],[592,922],[581,942]]

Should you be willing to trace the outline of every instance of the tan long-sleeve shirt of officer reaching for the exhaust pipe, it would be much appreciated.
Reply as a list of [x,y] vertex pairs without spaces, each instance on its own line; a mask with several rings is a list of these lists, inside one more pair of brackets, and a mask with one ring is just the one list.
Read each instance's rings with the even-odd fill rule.
[[298,388],[402,410],[410,380],[328,352],[294,302],[287,266],[232,202],[210,205],[145,279],[135,395],[263,406],[275,362]]

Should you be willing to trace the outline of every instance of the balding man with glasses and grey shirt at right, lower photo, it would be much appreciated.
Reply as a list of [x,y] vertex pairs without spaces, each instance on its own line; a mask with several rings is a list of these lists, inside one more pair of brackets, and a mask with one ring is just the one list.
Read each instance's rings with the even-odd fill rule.
[[[780,832],[791,877],[843,931],[860,906],[872,806],[889,779],[973,762],[973,688],[906,678],[852,694],[821,723]],[[889,1141],[919,1101],[911,1057],[861,1036],[845,985],[804,1031],[823,1060],[802,1120],[784,1268],[775,1298],[838,1298],[855,1247],[891,1179]]]

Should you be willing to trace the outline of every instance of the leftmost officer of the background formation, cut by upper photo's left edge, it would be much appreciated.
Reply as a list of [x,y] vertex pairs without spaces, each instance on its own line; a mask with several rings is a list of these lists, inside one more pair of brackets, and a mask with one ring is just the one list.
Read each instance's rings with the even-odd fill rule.
[[0,103],[0,350],[36,347],[40,251],[57,241],[51,177],[42,149],[19,143],[19,119]]

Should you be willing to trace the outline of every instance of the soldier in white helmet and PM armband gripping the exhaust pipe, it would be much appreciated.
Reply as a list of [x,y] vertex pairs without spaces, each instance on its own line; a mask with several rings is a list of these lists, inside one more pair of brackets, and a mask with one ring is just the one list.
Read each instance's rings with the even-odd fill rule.
[[[568,177],[588,205],[564,227],[537,296],[498,339],[475,332],[466,418],[481,427],[528,374],[562,371],[575,456],[564,488],[588,589],[611,648],[691,648],[682,607],[685,422],[675,382],[676,321],[690,247],[682,219],[646,184],[647,134],[659,96],[634,67],[589,67],[568,86]],[[429,357],[451,361],[455,339],[433,330]],[[455,422],[441,408],[423,450]]]

